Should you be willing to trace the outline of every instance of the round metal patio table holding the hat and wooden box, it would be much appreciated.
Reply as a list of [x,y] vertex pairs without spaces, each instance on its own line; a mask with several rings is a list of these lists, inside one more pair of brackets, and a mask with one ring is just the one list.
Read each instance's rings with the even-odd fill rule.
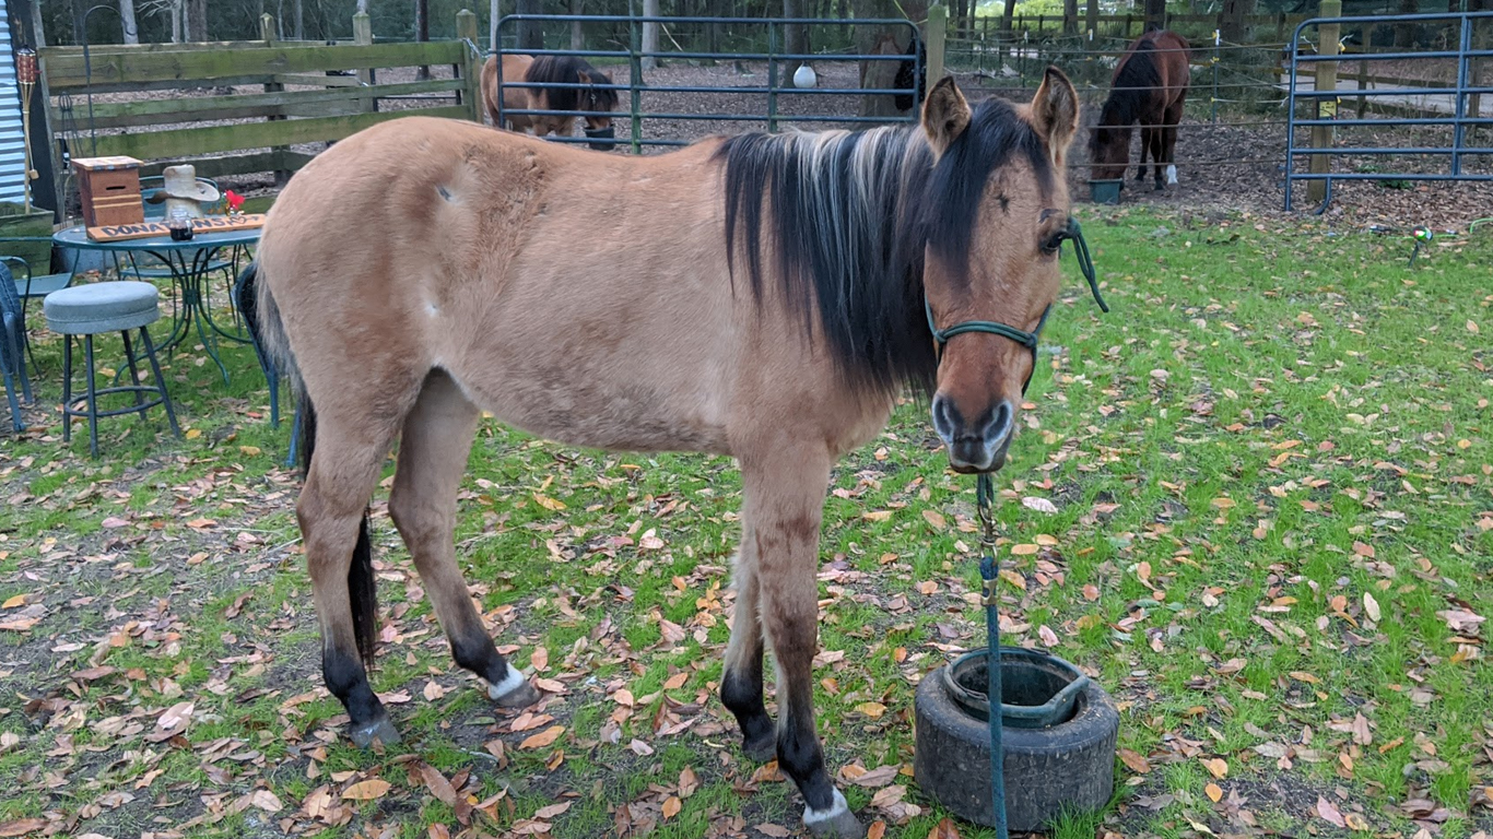
[[218,364],[218,370],[222,373],[224,382],[228,381],[228,369],[222,366],[222,358],[218,357],[218,336],[239,343],[252,342],[246,334],[228,331],[212,319],[212,308],[208,305],[206,294],[206,276],[213,270],[221,269],[221,266],[212,264],[219,251],[224,248],[254,245],[258,240],[258,228],[197,233],[184,242],[178,242],[170,236],[99,242],[90,239],[88,231],[84,227],[69,227],[67,230],[52,234],[52,242],[61,248],[76,248],[79,251],[107,251],[112,254],[122,252],[125,254],[125,258],[130,260],[130,266],[134,269],[140,269],[140,266],[134,263],[134,254],[149,254],[160,260],[160,263],[170,270],[172,284],[181,290],[181,308],[173,308],[172,333],[166,336],[164,340],[158,342],[158,346],[163,349],[173,349],[176,345],[187,340],[187,336],[191,334],[193,325],[196,325],[197,336],[202,339],[202,345],[208,351],[208,357]]

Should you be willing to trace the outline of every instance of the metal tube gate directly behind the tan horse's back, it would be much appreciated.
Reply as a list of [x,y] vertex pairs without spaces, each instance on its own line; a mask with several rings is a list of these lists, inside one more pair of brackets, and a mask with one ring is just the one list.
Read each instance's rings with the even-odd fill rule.
[[[518,24],[533,21],[533,22],[551,22],[551,24],[626,24],[627,27],[627,49],[515,49],[502,48],[511,37],[511,34]],[[667,27],[670,24],[690,24],[690,25],[720,25],[730,24],[736,27],[764,27],[766,28],[766,51],[757,52],[711,52],[711,51],[645,51],[642,46],[642,24],[660,24]],[[896,61],[899,69],[909,67],[911,75],[903,72],[902,76],[909,79],[923,78],[923,52],[921,49],[912,49],[911,54],[894,52],[875,52],[861,54],[858,51],[850,52],[818,52],[818,54],[796,54],[787,52],[784,45],[784,27],[787,25],[803,25],[803,27],[897,27],[906,28],[912,43],[918,42],[917,25],[911,21],[893,18],[854,18],[854,19],[833,19],[826,21],[821,18],[694,18],[694,16],[636,16],[636,15],[508,15],[497,24],[497,42],[488,54],[499,55],[499,102],[497,102],[497,116],[499,124],[503,124],[508,116],[534,116],[534,115],[567,115],[567,116],[627,116],[629,119],[629,136],[615,139],[597,139],[597,137],[549,137],[551,140],[567,142],[567,143],[606,143],[606,145],[626,145],[633,154],[640,154],[645,146],[682,146],[693,140],[684,139],[666,139],[666,137],[646,137],[643,131],[643,121],[714,121],[714,122],[761,122],[767,131],[776,131],[781,124],[785,122],[829,122],[829,124],[887,124],[887,122],[917,122],[917,113],[921,106],[923,90],[915,81],[909,82],[906,87],[882,87],[882,88],[861,88],[861,87],[814,87],[814,88],[799,88],[794,87],[791,79],[784,79],[782,70],[785,66],[793,66],[800,61],[812,64],[832,64],[832,63],[858,63],[858,61]],[[594,85],[597,88],[608,88],[618,91],[618,99],[626,97],[626,112],[618,110],[615,113],[602,113],[596,110],[536,110],[536,109],[505,109],[503,107],[503,90],[511,88],[585,88],[591,85],[582,84],[561,84],[561,82],[526,82],[523,79],[503,79],[502,76],[502,57],[503,55],[575,55],[581,58],[599,58],[603,63],[623,63],[627,66],[627,84],[612,84],[612,85]],[[672,61],[764,61],[766,63],[766,84],[758,85],[651,85],[645,81],[645,70],[642,67],[645,58],[664,58]],[[608,67],[603,64],[602,70]],[[652,70],[648,70],[649,73]],[[646,94],[749,94],[754,97],[764,97],[764,110],[757,113],[681,113],[670,110],[646,110],[643,107],[643,97]],[[787,97],[863,97],[863,96],[897,96],[897,97],[912,97],[912,107],[903,115],[896,116],[858,116],[845,113],[785,113],[779,109],[779,105]]]

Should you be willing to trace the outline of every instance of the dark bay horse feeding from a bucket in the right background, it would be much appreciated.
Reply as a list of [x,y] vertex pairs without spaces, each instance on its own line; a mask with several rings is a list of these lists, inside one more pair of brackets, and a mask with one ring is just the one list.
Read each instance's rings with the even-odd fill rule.
[[1176,184],[1176,124],[1182,121],[1187,85],[1191,81],[1187,40],[1175,31],[1151,30],[1126,49],[1109,82],[1109,99],[1099,112],[1090,142],[1091,178],[1124,178],[1130,164],[1130,131],[1141,122],[1141,169],[1145,181],[1145,155],[1156,164],[1156,188],[1162,190],[1162,164],[1166,182]]

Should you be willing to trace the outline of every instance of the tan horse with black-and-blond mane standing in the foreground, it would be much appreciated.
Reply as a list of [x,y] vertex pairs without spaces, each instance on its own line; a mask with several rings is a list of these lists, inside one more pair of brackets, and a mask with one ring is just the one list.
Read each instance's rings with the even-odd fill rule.
[[[933,391],[956,470],[1005,463],[1035,352],[954,324],[1030,330],[1053,305],[1076,127],[1076,91],[1048,69],[1020,106],[972,110],[944,79],[921,130],[620,157],[411,116],[312,160],[270,209],[245,282],[311,422],[296,512],[351,739],[397,740],[364,672],[378,626],[366,508],[396,439],[390,515],[452,657],[505,708],[539,694],[494,648],[452,543],[482,411],[569,445],[729,454],[744,509],[721,700],[746,754],[776,755],[797,784],[815,833],[861,836],[814,727],[830,470],[908,384]],[[960,333],[942,357],[932,322]]]

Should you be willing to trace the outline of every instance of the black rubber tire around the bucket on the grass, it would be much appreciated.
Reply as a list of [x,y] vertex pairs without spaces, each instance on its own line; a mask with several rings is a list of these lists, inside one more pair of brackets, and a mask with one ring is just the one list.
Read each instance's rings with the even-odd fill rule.
[[[990,799],[990,730],[948,696],[942,672],[918,684],[918,787],[956,815],[994,824]],[[1115,739],[1120,714],[1109,696],[1090,682],[1072,720],[1050,729],[1005,729],[1006,824],[1012,832],[1041,832],[1062,812],[1088,812],[1114,793]]]

